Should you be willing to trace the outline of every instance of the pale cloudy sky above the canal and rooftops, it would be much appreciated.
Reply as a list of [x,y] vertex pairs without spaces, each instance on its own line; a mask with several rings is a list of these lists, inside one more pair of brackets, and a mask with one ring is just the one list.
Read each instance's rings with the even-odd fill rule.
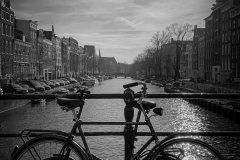
[[102,57],[131,64],[154,33],[173,23],[205,27],[215,0],[11,0],[18,19],[94,45]]

